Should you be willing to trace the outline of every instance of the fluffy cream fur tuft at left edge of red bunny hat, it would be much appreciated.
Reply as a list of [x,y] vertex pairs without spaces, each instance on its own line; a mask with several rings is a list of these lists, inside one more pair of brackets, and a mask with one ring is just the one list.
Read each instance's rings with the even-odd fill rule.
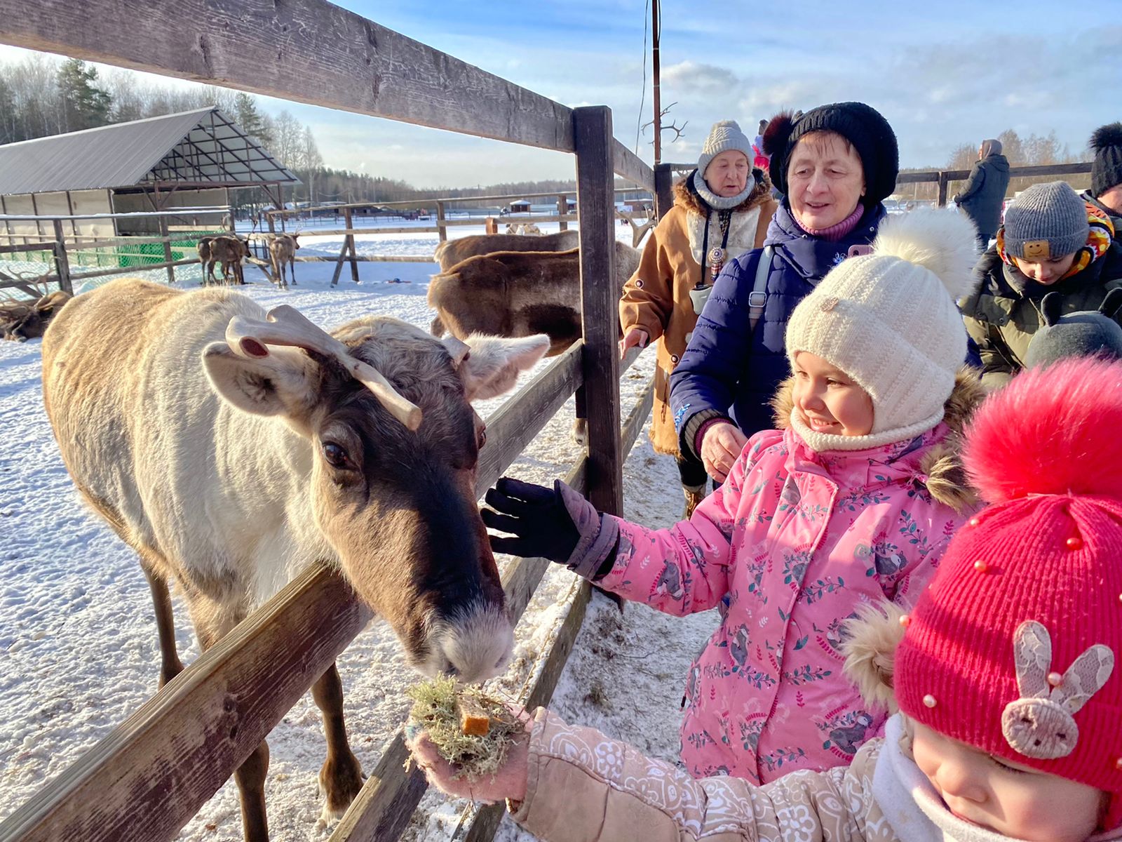
[[891,602],[862,605],[857,616],[846,620],[843,626],[848,635],[842,643],[843,672],[857,685],[867,704],[893,713],[898,706],[892,675],[896,647],[904,637],[903,616],[903,610]]

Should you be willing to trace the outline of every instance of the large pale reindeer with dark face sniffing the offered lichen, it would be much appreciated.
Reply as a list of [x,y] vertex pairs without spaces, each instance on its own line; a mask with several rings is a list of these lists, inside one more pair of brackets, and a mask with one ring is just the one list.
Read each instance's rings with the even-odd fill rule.
[[[470,401],[509,390],[546,337],[439,341],[388,317],[331,333],[229,290],[125,278],[77,296],[43,344],[47,415],[81,496],[148,578],[159,685],[183,665],[168,580],[202,649],[314,560],[337,566],[427,675],[502,671],[514,631],[476,507]],[[120,360],[132,360],[122,368]],[[332,665],[323,820],[362,785]],[[267,840],[263,741],[234,772],[246,838]]]

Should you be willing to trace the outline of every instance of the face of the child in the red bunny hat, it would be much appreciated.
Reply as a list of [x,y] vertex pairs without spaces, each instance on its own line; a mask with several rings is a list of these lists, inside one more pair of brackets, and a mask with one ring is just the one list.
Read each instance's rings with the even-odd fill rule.
[[1084,842],[1098,826],[1105,793],[912,727],[916,765],[959,818],[1028,842]]

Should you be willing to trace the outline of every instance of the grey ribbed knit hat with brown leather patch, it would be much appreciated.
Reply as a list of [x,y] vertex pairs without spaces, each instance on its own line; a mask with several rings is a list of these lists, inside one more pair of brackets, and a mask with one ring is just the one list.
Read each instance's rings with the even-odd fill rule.
[[1005,211],[1005,254],[1026,260],[1074,255],[1087,244],[1087,205],[1061,181],[1033,184]]

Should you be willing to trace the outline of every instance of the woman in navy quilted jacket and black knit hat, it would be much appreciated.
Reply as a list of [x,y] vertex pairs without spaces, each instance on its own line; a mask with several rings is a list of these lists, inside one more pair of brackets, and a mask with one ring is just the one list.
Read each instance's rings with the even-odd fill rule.
[[[770,402],[789,373],[783,337],[791,311],[852,246],[873,241],[899,168],[892,128],[861,102],[776,116],[764,152],[783,202],[764,248],[721,269],[670,379],[679,446],[718,482],[747,437],[772,428]],[[765,285],[757,293],[761,260]]]

